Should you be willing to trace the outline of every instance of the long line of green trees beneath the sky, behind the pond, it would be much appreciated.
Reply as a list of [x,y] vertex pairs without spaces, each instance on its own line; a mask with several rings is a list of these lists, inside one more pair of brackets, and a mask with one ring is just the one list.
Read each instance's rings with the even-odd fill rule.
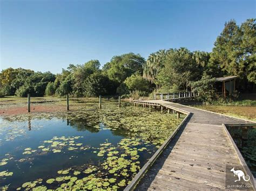
[[197,91],[213,98],[214,77],[236,75],[240,91],[255,90],[256,22],[247,19],[240,26],[225,23],[212,52],[187,48],[161,49],[149,55],[127,53],[113,56],[100,69],[98,60],[69,65],[60,74],[7,68],[0,73],[0,95],[31,96],[148,96],[153,91]]

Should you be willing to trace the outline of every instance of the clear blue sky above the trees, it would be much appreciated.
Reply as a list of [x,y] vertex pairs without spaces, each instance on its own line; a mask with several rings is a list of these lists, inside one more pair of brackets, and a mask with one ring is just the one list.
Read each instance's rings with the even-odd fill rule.
[[255,1],[0,0],[0,69],[61,72],[70,63],[187,47],[210,52],[226,21],[255,18]]

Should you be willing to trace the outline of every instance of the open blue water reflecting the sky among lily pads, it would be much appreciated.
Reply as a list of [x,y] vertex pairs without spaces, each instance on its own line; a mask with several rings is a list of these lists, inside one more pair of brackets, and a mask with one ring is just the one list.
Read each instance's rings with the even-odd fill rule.
[[[99,162],[103,162],[105,158],[98,157],[97,148],[102,143],[111,143],[111,146],[116,147],[125,135],[123,131],[120,131],[118,135],[114,135],[110,129],[104,124],[99,124],[100,131],[92,131],[91,127],[84,125],[84,129],[77,129],[76,121],[71,121],[69,125],[66,120],[53,118],[51,120],[44,119],[31,119],[31,129],[29,129],[29,121],[23,122],[8,122],[1,119],[2,132],[0,135],[0,160],[3,158],[14,157],[8,161],[8,164],[0,166],[0,172],[6,171],[14,172],[12,176],[8,176],[5,181],[0,182],[0,187],[11,183],[12,188],[17,188],[24,182],[33,181],[39,178],[48,179],[57,176],[57,171],[60,169],[70,168],[72,166],[83,166],[85,164],[98,165]],[[79,120],[79,124],[81,120]],[[71,124],[75,125],[72,126]],[[89,129],[86,129],[89,128]],[[10,131],[11,130],[11,131]],[[114,133],[117,133],[116,130]],[[6,140],[9,137],[14,137],[12,140]],[[17,136],[17,137],[15,137]],[[82,143],[80,147],[90,147],[87,150],[74,150],[69,151],[65,145],[60,153],[53,153],[52,151],[44,153],[38,146],[44,145],[50,147],[51,143],[43,143],[44,140],[51,140],[53,137],[76,137],[75,143]],[[55,140],[53,140],[55,141]],[[63,141],[63,140],[57,140]],[[144,146],[144,145],[143,145]],[[31,150],[37,150],[32,154],[23,154],[24,149],[30,147]],[[74,146],[78,147],[78,146]],[[50,147],[52,149],[52,147]],[[55,148],[55,147],[53,147]],[[154,149],[155,147],[153,147]],[[9,155],[5,155],[9,154]],[[140,160],[142,164],[149,159],[151,154],[143,153]],[[24,162],[18,162],[20,159],[26,159]],[[25,175],[24,175],[25,172]],[[17,186],[17,187],[16,187]]]

